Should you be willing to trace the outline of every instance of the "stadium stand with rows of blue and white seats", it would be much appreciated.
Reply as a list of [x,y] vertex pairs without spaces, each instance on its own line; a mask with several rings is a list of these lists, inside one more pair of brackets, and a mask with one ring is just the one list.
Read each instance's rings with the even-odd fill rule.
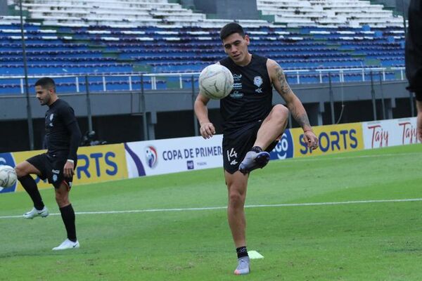
[[[8,4],[18,9],[18,1]],[[129,75],[199,72],[224,57],[219,27],[231,20],[207,19],[167,0],[25,0],[25,41],[30,75],[104,75],[89,80],[93,91],[127,90]],[[382,67],[385,79],[399,79],[404,66],[402,18],[381,5],[359,0],[257,0],[267,20],[239,20],[254,41],[250,51],[276,59],[290,83],[368,79],[362,68]],[[0,16],[0,70],[23,74],[19,18]],[[359,69],[359,72],[349,72]],[[344,70],[344,71],[343,71]],[[112,74],[126,76],[109,77]],[[342,78],[343,77],[343,78]],[[146,79],[149,89],[165,89],[163,79]],[[75,91],[82,78],[58,80]],[[184,79],[183,84],[189,84]],[[63,84],[63,85],[62,85]],[[73,86],[72,86],[73,84]],[[91,89],[91,88],[90,88]],[[0,93],[22,93],[19,79],[0,79]]]

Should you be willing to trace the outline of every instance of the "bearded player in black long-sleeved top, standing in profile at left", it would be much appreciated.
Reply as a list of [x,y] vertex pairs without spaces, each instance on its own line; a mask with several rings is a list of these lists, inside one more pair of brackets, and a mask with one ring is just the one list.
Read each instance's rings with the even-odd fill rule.
[[42,202],[34,178],[48,179],[56,191],[56,202],[60,209],[68,239],[53,250],[79,248],[76,237],[75,211],[69,202],[69,191],[77,164],[77,148],[81,142],[81,131],[72,107],[56,95],[53,79],[44,77],[35,83],[35,91],[41,105],[48,105],[45,129],[47,152],[21,162],[15,167],[18,180],[30,195],[34,208],[24,218],[49,216],[49,210]]

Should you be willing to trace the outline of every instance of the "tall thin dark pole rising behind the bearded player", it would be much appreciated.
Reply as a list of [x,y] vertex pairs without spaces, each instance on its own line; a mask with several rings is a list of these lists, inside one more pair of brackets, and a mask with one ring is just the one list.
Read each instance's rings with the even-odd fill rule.
[[19,11],[20,11],[20,37],[21,37],[21,44],[22,44],[23,71],[25,74],[25,95],[26,95],[26,100],[27,100],[28,135],[30,138],[30,150],[34,150],[34,128],[32,127],[30,86],[28,83],[28,67],[27,67],[27,58],[26,58],[26,49],[25,49],[25,31],[23,27],[22,0],[19,0]]

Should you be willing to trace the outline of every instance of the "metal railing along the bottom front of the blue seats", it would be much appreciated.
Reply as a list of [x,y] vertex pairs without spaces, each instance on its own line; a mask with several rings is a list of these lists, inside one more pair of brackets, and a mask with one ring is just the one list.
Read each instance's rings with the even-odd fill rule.
[[[383,81],[404,80],[404,67],[373,67],[373,68],[335,68],[317,70],[284,70],[290,84],[323,84],[371,81],[371,73],[381,74]],[[30,86],[44,75],[29,76]],[[191,89],[198,86],[199,72],[184,73],[110,73],[110,74],[72,74],[45,75],[56,80],[60,93],[80,93],[87,91],[136,91],[141,89]],[[24,94],[25,77],[0,76],[1,94]]]

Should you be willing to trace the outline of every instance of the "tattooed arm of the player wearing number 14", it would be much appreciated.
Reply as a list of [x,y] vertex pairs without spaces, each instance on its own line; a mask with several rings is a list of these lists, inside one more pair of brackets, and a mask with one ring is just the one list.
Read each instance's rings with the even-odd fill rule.
[[305,107],[303,107],[302,102],[295,93],[293,93],[290,86],[288,86],[286,76],[280,65],[274,60],[268,60],[267,69],[274,89],[276,89],[280,96],[286,101],[286,105],[293,118],[302,127],[304,132],[303,137],[305,138],[308,147],[312,149],[318,148],[318,138],[315,136],[314,131],[312,131],[312,126],[309,124]]

